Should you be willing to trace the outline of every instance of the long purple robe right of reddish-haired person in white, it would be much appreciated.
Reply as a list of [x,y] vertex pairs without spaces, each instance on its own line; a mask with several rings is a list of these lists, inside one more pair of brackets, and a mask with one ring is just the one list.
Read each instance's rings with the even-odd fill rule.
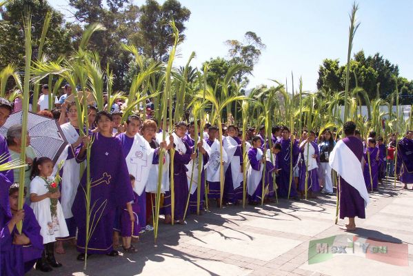
[[[183,139],[182,139],[183,140]],[[188,198],[188,179],[186,177],[187,168],[185,165],[191,161],[192,150],[190,146],[183,141],[186,151],[175,151],[174,154],[174,219],[183,219],[185,212],[186,200]],[[163,212],[165,215],[171,215],[171,192],[166,191],[163,199]]]

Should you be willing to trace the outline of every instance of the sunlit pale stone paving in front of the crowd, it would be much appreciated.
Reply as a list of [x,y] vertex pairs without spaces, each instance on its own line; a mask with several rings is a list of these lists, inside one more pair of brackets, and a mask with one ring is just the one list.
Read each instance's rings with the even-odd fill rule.
[[[308,264],[310,240],[345,234],[339,229],[345,221],[334,225],[336,197],[323,196],[245,209],[212,208],[188,217],[186,226],[162,225],[157,246],[148,233],[136,244],[137,254],[92,256],[87,270],[70,247],[57,257],[64,266],[53,275],[413,275],[413,191],[385,184],[371,199],[367,219],[356,221],[354,235],[407,244],[410,266],[350,255]],[[32,270],[28,275],[46,274]]]

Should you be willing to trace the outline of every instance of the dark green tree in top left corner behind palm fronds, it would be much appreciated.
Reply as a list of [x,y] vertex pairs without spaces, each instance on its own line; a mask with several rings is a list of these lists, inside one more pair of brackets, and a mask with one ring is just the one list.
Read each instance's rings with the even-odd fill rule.
[[14,63],[19,67],[24,65],[24,37],[22,11],[28,8],[32,14],[32,56],[37,57],[37,47],[43,30],[43,22],[47,12],[51,12],[52,19],[43,48],[43,53],[50,59],[57,59],[61,55],[68,55],[72,51],[70,32],[64,28],[63,14],[54,10],[47,1],[41,0],[14,0],[6,4],[1,11],[0,21],[0,68]]

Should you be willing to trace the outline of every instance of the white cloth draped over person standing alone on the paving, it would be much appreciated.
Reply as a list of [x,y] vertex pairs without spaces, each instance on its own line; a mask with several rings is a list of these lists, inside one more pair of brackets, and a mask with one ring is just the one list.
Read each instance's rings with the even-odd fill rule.
[[361,162],[343,140],[338,141],[334,146],[328,163],[348,184],[359,191],[364,199],[364,206],[367,206],[370,199],[365,187]]

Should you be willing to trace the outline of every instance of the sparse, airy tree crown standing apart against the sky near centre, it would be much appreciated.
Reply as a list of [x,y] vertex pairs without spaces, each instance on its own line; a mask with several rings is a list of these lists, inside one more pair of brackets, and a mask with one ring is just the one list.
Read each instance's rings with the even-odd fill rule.
[[227,40],[225,44],[229,47],[228,55],[232,58],[231,64],[243,64],[245,68],[241,70],[235,77],[238,81],[245,74],[251,73],[254,70],[254,65],[259,61],[261,51],[265,49],[265,44],[261,41],[261,37],[255,32],[245,32],[244,40]]

